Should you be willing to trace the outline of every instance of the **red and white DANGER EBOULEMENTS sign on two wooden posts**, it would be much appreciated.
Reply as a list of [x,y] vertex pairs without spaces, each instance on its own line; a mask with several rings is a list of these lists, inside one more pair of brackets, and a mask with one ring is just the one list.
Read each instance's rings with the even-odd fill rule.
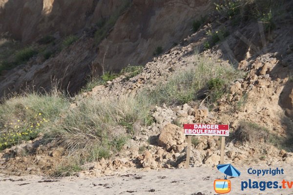
[[221,136],[221,158],[220,164],[224,164],[225,137],[229,136],[229,125],[214,124],[184,124],[184,135],[188,136],[186,168],[189,168],[191,136]]

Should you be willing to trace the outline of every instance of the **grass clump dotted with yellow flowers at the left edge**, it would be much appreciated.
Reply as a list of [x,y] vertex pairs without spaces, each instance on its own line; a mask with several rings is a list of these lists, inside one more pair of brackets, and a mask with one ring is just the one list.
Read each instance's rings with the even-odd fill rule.
[[36,138],[68,107],[59,93],[26,94],[4,101],[0,104],[0,149]]

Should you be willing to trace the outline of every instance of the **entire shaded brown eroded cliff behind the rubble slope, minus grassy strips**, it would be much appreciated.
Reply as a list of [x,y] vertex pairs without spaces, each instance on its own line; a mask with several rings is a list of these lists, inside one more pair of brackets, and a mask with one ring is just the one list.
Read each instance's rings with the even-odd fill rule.
[[[211,0],[133,0],[99,44],[94,30],[122,0],[0,0],[0,32],[31,43],[45,35],[79,34],[54,58],[30,60],[0,76],[0,97],[25,86],[49,90],[51,80],[76,92],[94,68],[98,74],[128,64],[144,65],[156,47],[167,51],[191,34],[192,21],[207,15]],[[14,14],[12,14],[14,13]]]

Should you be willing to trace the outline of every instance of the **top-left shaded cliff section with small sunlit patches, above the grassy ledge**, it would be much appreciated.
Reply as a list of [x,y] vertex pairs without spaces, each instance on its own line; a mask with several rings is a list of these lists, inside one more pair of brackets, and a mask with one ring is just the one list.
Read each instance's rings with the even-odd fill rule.
[[44,35],[61,37],[109,16],[123,0],[0,0],[0,33],[24,43]]

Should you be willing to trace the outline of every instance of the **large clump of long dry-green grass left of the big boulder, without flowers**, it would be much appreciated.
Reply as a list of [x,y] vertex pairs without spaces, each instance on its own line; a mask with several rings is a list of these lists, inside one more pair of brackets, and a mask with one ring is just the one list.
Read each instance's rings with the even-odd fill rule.
[[[79,106],[67,113],[63,122],[54,126],[48,136],[58,139],[69,154],[80,162],[95,161],[119,152],[131,133],[124,121],[141,121],[148,108],[134,97],[105,98],[96,101],[83,99]],[[108,155],[106,155],[108,154]]]

